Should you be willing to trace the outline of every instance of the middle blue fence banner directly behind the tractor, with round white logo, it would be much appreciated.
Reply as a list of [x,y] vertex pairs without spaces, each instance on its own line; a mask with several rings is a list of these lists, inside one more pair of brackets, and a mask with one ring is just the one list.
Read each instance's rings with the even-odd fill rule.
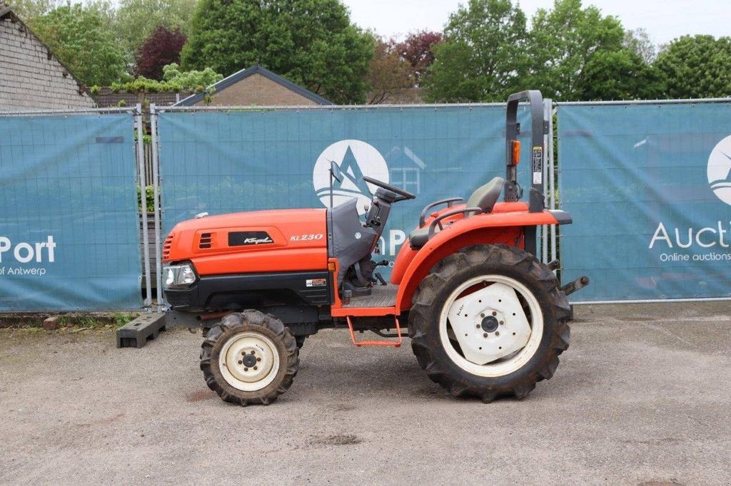
[[[529,140],[527,106],[519,115],[520,138]],[[334,161],[344,175],[334,186],[336,205],[356,197],[365,213],[375,187],[363,175],[417,195],[391,210],[380,249],[393,262],[426,204],[467,199],[505,173],[504,104],[184,107],[163,109],[157,123],[166,232],[201,212],[327,207]],[[519,182],[529,187],[529,164],[518,169]],[[390,269],[382,274],[387,278]]]

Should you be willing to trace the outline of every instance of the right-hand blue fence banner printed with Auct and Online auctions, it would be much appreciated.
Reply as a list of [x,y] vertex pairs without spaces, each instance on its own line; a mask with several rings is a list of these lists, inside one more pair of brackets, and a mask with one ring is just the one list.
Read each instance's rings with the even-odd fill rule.
[[731,100],[558,104],[577,301],[731,296]]

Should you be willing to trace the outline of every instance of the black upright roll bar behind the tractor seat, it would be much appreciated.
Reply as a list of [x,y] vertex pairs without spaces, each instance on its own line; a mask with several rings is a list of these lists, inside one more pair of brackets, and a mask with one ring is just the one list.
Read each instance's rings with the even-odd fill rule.
[[505,201],[518,201],[518,167],[512,163],[512,141],[518,139],[518,104],[528,101],[531,107],[531,190],[529,192],[529,212],[542,212],[543,195],[543,96],[539,90],[526,90],[513,93],[507,99],[507,115],[505,121]]

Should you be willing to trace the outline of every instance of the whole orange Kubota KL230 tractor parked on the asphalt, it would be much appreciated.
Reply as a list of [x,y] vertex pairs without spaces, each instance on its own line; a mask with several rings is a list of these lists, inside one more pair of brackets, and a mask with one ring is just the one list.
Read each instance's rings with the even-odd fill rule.
[[[516,180],[523,100],[531,108],[527,204]],[[167,323],[204,329],[208,386],[235,404],[270,404],[292,385],[306,337],[339,327],[358,347],[399,347],[408,328],[420,366],[454,396],[523,398],[552,377],[569,346],[567,294],[588,279],[561,287],[558,263],[536,258],[537,226],[571,223],[544,207],[542,113],[539,91],[510,96],[507,177],[466,202],[427,204],[388,283],[374,250],[391,206],[415,196],[370,177],[364,221],[352,199],[178,223],[163,248]],[[363,331],[379,339],[359,341]]]

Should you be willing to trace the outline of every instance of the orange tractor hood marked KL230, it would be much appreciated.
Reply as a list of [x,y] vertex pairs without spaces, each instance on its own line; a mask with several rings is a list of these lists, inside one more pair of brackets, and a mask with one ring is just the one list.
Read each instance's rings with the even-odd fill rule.
[[[293,257],[298,261],[295,268]],[[290,264],[281,271],[327,268],[326,209],[274,209],[186,220],[170,231],[162,250],[164,262],[193,261],[199,274],[279,271],[277,262],[282,258]]]

